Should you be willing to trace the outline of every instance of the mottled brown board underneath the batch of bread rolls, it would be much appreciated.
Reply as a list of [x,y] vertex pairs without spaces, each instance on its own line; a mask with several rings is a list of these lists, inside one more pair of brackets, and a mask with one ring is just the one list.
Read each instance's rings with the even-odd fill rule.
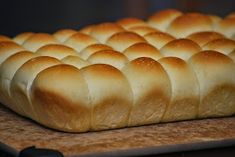
[[65,156],[77,156],[138,149],[143,152],[149,148],[226,140],[235,142],[235,117],[74,134],[45,128],[0,105],[0,141],[17,150],[35,145],[57,149]]

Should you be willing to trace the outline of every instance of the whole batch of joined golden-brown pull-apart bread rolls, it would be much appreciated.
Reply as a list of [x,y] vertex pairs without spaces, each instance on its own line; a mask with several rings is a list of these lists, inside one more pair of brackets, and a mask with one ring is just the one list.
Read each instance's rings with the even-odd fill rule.
[[235,114],[235,16],[167,9],[0,35],[0,102],[65,132]]

